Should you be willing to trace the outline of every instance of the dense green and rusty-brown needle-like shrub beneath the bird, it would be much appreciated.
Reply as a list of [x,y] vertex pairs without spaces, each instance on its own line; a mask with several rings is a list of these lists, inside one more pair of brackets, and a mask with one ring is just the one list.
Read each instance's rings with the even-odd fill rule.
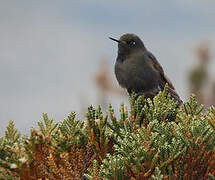
[[178,106],[166,86],[130,110],[90,106],[55,123],[47,114],[21,137],[13,121],[0,138],[0,179],[215,179],[215,108],[194,95]]

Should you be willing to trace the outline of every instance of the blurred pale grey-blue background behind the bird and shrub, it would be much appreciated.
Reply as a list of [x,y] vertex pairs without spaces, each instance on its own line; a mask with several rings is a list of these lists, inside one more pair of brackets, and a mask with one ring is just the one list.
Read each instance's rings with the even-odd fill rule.
[[186,101],[215,104],[213,0],[2,0],[0,135],[10,119],[24,132],[43,112],[56,121],[87,107],[128,104],[116,82],[119,38],[135,33]]

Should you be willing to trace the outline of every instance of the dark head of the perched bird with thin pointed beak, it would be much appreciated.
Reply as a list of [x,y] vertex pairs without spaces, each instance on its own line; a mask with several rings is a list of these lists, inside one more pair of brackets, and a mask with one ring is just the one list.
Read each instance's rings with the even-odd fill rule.
[[119,40],[109,37],[111,40],[118,42],[118,53],[121,55],[129,55],[138,50],[145,50],[145,46],[141,39],[135,34],[124,34]]

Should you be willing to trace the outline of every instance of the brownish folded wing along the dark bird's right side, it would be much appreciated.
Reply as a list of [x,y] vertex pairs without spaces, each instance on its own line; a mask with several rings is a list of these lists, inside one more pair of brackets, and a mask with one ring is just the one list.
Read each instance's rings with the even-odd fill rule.
[[164,74],[163,68],[160,63],[157,61],[156,57],[150,52],[146,51],[146,55],[152,60],[153,67],[160,73],[161,78],[164,80],[164,85],[168,83],[169,88],[175,89],[169,78]]

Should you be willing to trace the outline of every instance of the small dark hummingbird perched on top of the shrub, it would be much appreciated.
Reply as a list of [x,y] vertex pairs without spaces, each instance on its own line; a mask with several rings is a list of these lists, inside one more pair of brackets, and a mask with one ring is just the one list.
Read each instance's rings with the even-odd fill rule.
[[143,41],[135,34],[127,33],[120,39],[109,39],[118,43],[118,54],[115,61],[115,75],[119,85],[126,88],[129,95],[153,99],[168,84],[168,94],[180,106],[183,101],[177,94],[172,82],[156,57],[147,50]]

